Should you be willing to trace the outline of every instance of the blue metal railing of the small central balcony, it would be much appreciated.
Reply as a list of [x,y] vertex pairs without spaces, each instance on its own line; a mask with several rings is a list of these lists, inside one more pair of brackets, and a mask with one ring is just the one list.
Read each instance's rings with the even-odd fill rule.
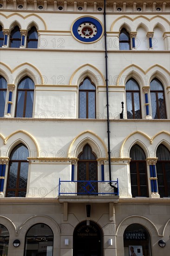
[[[69,186],[64,186],[65,182],[77,182],[77,189],[78,192],[69,192]],[[98,183],[110,183],[113,185],[114,188],[111,188],[110,185],[107,183],[106,186],[98,187]],[[61,186],[62,185],[62,186]],[[108,191],[108,186],[111,191]],[[106,190],[105,190],[106,189]],[[103,191],[102,191],[103,190]],[[107,191],[107,192],[105,192]],[[59,178],[59,195],[118,195],[118,179],[117,181],[61,181]]]

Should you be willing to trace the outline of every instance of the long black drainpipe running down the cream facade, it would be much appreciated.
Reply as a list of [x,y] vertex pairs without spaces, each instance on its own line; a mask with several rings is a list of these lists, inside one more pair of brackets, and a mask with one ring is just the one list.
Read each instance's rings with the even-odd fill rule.
[[[111,149],[110,149],[110,121],[109,121],[109,94],[108,94],[108,69],[107,69],[107,41],[106,41],[106,0],[104,0],[104,29],[105,29],[105,83],[107,98],[107,140],[108,140],[108,160],[109,160],[109,184],[112,188],[117,189],[111,182]],[[116,191],[115,191],[116,192]]]

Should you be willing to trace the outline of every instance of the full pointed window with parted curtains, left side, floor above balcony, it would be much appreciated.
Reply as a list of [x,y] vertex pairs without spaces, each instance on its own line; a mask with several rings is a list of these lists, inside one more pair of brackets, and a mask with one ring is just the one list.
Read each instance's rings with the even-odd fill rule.
[[33,116],[34,82],[29,76],[25,76],[17,89],[17,103],[15,117]]

